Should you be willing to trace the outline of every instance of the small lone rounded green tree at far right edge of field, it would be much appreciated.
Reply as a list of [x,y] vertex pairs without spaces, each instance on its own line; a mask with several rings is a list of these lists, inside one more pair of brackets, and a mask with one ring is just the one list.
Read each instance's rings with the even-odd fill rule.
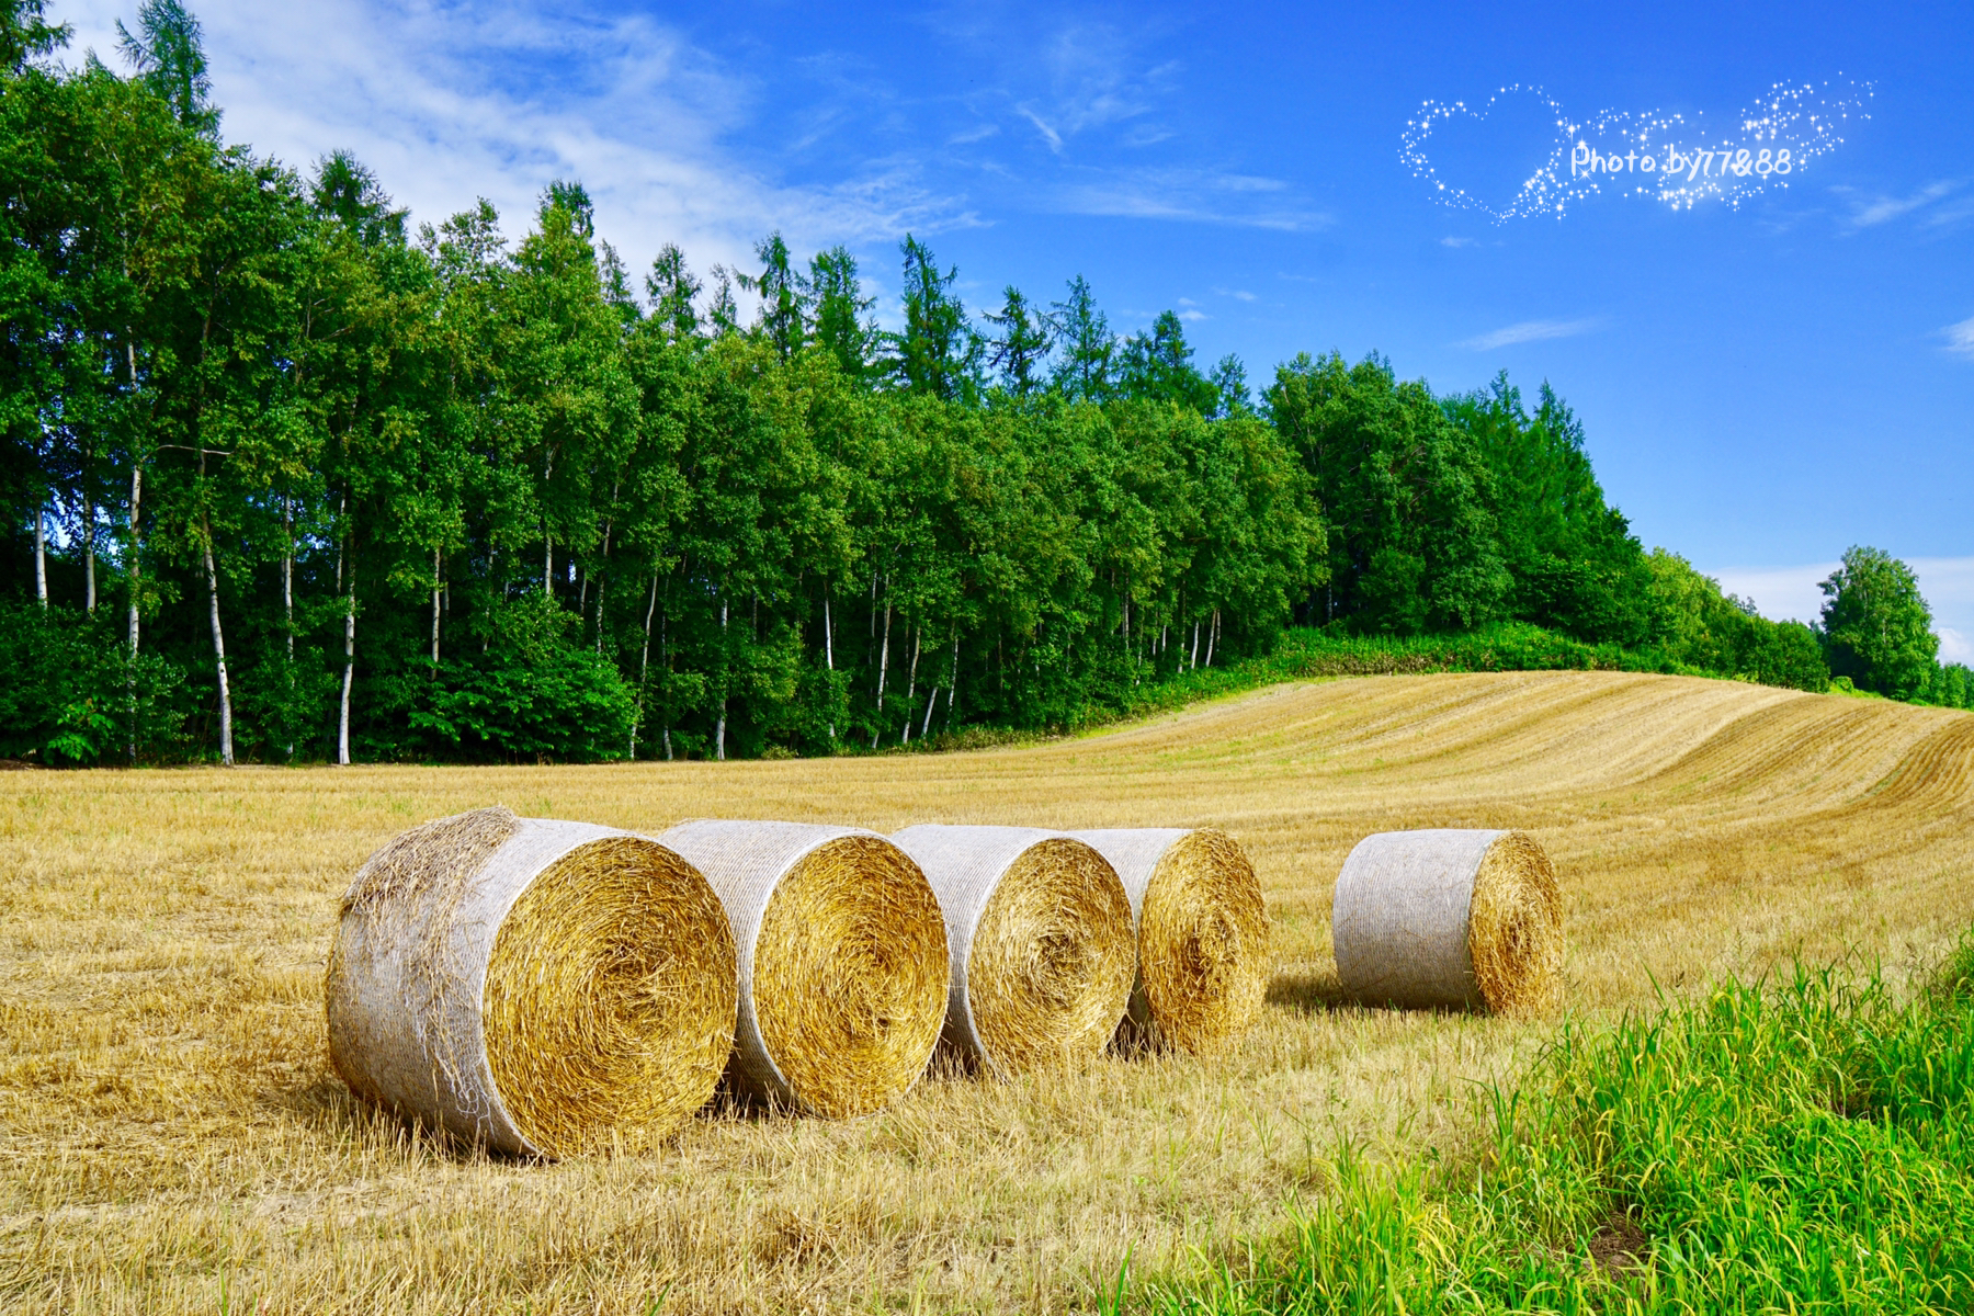
[[1940,641],[1913,568],[1881,548],[1854,547],[1822,590],[1830,671],[1891,698],[1919,695]]

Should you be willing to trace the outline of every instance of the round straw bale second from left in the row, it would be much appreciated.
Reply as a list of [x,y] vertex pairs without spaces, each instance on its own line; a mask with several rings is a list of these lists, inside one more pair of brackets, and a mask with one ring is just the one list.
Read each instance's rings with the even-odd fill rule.
[[697,819],[659,841],[732,921],[742,1091],[849,1119],[918,1081],[946,1006],[946,923],[918,864],[861,827]]

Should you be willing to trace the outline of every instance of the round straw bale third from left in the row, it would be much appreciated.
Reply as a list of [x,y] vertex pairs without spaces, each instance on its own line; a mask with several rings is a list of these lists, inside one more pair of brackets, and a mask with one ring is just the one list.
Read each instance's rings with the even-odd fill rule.
[[1131,900],[1092,846],[1038,827],[908,827],[951,947],[946,1042],[999,1075],[1103,1052],[1131,998]]

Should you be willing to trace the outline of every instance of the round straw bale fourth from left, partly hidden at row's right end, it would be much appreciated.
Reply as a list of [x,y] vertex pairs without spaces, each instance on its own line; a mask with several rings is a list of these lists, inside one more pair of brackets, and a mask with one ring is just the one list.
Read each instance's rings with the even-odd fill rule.
[[1253,1026],[1267,992],[1267,904],[1253,864],[1212,827],[1070,833],[1131,898],[1137,985],[1125,1028],[1204,1056]]

